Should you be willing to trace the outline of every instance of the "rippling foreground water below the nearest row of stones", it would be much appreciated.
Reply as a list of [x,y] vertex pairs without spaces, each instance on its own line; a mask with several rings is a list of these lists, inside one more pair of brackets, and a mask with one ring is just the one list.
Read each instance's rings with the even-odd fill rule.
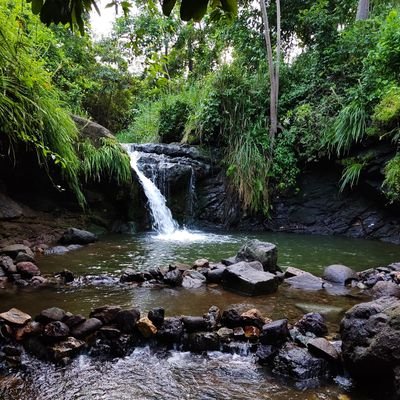
[[26,378],[10,384],[3,392],[0,389],[0,398],[337,400],[339,393],[343,393],[340,387],[329,385],[296,391],[270,376],[252,356],[220,352],[208,352],[207,355],[177,351],[154,353],[146,347],[112,361],[98,361],[82,355],[63,368],[33,359],[27,361],[29,372]]

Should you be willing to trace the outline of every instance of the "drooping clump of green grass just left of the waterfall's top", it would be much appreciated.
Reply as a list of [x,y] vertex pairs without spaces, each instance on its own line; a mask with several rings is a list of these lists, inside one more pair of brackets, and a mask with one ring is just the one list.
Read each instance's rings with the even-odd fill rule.
[[119,185],[131,182],[129,156],[116,140],[101,138],[98,147],[85,140],[78,144],[78,152],[81,157],[80,173],[86,182],[100,182],[105,178]]

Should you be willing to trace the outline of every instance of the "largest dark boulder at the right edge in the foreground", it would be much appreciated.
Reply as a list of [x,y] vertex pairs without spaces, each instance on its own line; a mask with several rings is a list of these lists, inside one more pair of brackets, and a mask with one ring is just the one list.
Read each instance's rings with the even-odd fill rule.
[[400,300],[381,297],[346,312],[340,326],[343,360],[357,380],[392,382],[400,398]]

